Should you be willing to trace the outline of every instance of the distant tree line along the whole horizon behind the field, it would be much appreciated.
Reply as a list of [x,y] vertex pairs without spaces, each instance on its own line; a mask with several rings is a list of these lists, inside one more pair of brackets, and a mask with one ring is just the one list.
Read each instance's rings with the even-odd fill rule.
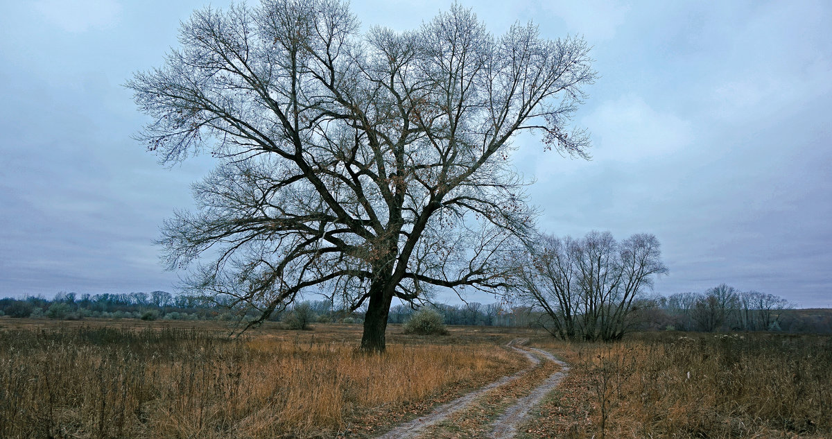
[[[425,305],[448,325],[537,327],[552,332],[552,319],[540,307],[518,303]],[[639,296],[623,322],[630,330],[678,331],[781,331],[832,333],[832,310],[793,309],[784,298],[757,291],[740,291],[726,284],[701,293],[675,293],[667,297]],[[389,323],[406,323],[418,308],[398,304],[390,308]],[[141,318],[144,320],[245,320],[255,312],[234,310],[216,298],[151,293],[58,293],[0,298],[0,316],[11,318]],[[581,315],[577,319],[583,318]],[[305,329],[311,323],[362,323],[364,309],[345,312],[328,300],[306,300],[270,317],[287,328]]]

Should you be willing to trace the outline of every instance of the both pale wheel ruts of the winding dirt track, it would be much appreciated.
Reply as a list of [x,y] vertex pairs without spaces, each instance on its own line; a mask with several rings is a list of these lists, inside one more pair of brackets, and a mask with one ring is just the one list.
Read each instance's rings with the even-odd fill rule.
[[454,413],[469,407],[474,401],[485,396],[488,392],[492,392],[498,387],[525,377],[528,372],[531,372],[542,361],[557,363],[561,366],[561,370],[559,372],[553,373],[546,379],[545,382],[542,382],[537,385],[537,387],[534,387],[532,392],[530,392],[526,397],[518,398],[517,402],[508,407],[508,409],[506,409],[496,421],[492,422],[492,427],[490,428],[490,434],[488,437],[492,437],[493,439],[508,439],[509,437],[514,437],[514,435],[518,432],[518,427],[526,419],[528,412],[540,403],[542,398],[545,397],[548,392],[551,392],[553,388],[557,387],[557,384],[561,382],[562,378],[566,376],[566,373],[569,370],[566,363],[562,363],[557,360],[557,358],[554,358],[551,353],[547,353],[546,351],[536,348],[520,348],[524,343],[527,343],[526,339],[515,338],[506,346],[525,355],[526,358],[528,358],[529,363],[531,363],[529,367],[515,373],[514,375],[502,377],[497,381],[488,384],[488,386],[482,387],[474,392],[470,392],[451,402],[447,402],[439,407],[436,407],[433,412],[430,412],[423,417],[418,417],[410,422],[404,422],[398,427],[395,427],[393,430],[379,436],[379,439],[411,439],[418,437],[421,433],[427,430],[428,427],[432,427],[439,422],[445,421]]

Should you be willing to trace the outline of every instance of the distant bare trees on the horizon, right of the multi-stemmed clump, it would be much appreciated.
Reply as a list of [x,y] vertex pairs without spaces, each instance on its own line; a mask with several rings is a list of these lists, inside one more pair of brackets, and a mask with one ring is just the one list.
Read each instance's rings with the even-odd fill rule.
[[775,294],[720,284],[705,293],[672,294],[662,308],[673,326],[682,330],[768,331],[780,328],[783,311],[790,304]]

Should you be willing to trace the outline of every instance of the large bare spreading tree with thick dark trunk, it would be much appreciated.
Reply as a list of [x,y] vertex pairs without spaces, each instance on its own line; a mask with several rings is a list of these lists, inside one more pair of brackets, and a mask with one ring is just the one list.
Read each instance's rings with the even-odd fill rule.
[[252,323],[326,293],[366,303],[361,348],[384,350],[393,298],[505,284],[533,222],[507,160],[519,132],[587,155],[567,124],[596,76],[588,47],[532,24],[494,37],[453,6],[360,34],[345,3],[265,0],[194,12],[180,42],[126,83],[162,162],[217,158],[196,210],[163,227],[166,264],[260,309]]

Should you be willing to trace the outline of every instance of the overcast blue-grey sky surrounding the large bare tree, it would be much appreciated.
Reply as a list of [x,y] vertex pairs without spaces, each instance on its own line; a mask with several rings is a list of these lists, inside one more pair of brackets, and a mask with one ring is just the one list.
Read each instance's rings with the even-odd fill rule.
[[[543,229],[656,234],[670,269],[657,293],[726,283],[832,307],[832,3],[508,3],[463,5],[495,34],[532,20],[583,35],[601,74],[576,118],[592,161],[516,141]],[[405,30],[448,4],[352,6],[365,27]],[[121,84],[160,66],[204,5],[5,2],[0,297],[173,291],[152,241],[211,162],[157,165],[131,140],[146,119]]]

